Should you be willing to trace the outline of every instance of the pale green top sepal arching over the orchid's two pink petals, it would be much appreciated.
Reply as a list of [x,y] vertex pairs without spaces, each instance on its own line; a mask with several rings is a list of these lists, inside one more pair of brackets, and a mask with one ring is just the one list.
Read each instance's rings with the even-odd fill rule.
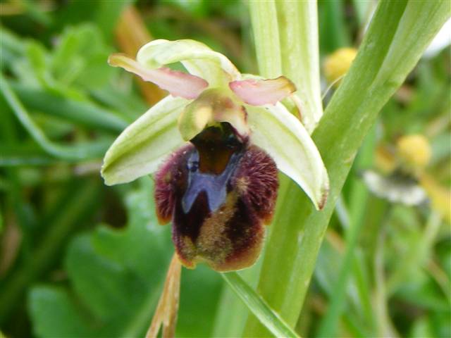
[[240,79],[240,72],[226,56],[190,39],[154,40],[141,47],[136,59],[150,68],[181,62],[192,75],[209,82],[210,87],[225,86]]

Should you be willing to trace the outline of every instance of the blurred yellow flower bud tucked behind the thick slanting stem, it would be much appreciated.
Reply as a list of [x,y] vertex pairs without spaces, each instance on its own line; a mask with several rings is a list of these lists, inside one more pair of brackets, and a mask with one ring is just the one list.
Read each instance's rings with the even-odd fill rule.
[[[327,56],[323,64],[326,80],[333,83],[345,75],[356,55],[357,49],[348,47],[337,49],[333,54]],[[340,81],[335,82],[335,86],[338,86],[338,84],[340,84]]]

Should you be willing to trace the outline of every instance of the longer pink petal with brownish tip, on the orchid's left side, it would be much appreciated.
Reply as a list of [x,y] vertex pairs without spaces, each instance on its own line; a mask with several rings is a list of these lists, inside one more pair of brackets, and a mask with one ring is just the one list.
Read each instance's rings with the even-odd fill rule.
[[139,75],[142,80],[154,82],[161,89],[166,89],[173,96],[195,99],[209,83],[201,77],[171,70],[170,68],[149,69],[123,54],[112,54],[108,63],[113,67],[121,67],[130,73]]

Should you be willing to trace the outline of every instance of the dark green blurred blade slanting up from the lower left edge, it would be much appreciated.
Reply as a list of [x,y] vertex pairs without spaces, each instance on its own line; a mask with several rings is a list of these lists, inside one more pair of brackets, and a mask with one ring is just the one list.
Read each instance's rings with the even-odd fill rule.
[[[11,181],[10,181],[11,182]],[[13,183],[14,184],[14,183]],[[23,183],[21,183],[23,184]],[[12,184],[11,184],[12,185]],[[89,221],[94,208],[101,197],[98,180],[73,180],[69,184],[63,185],[63,193],[58,194],[58,202],[54,204],[42,221],[44,225],[39,225],[39,229],[45,229],[39,237],[39,242],[32,251],[25,251],[24,263],[2,280],[0,289],[0,324],[4,325],[7,316],[20,304],[25,290],[32,282],[47,271],[54,263],[54,257],[58,256],[68,235],[80,224]],[[13,192],[11,187],[10,192]],[[25,200],[20,200],[18,196],[17,204],[21,204],[16,209],[23,227],[25,236],[30,236],[30,215],[24,213]],[[23,215],[22,215],[23,214]],[[28,227],[28,228],[27,228]],[[32,233],[31,233],[32,234]],[[24,242],[30,242],[30,237],[25,237]]]

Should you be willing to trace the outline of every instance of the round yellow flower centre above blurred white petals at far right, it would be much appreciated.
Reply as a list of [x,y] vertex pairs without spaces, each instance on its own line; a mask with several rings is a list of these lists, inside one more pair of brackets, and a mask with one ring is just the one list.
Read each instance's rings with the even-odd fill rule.
[[421,134],[400,137],[396,146],[400,160],[412,169],[424,168],[431,160],[431,146]]

